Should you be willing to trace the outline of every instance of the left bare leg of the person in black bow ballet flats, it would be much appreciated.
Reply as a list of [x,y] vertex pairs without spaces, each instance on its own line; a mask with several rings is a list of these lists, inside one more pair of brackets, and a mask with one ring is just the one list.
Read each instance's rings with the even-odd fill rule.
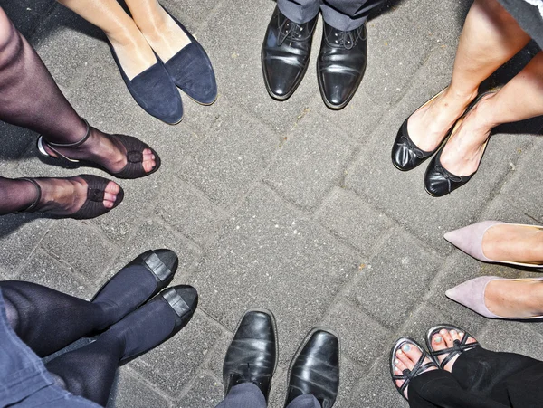
[[439,146],[477,95],[481,81],[527,43],[529,35],[496,0],[475,0],[460,36],[451,84],[439,97],[414,112],[407,123],[414,144],[425,151]]

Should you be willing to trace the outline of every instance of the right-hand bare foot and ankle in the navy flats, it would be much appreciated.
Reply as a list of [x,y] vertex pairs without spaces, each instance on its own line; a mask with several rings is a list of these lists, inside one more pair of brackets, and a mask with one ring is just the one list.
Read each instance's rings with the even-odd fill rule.
[[137,24],[162,62],[168,62],[177,52],[191,43],[186,33],[158,3],[157,7],[149,8],[148,18],[142,22],[138,21]]

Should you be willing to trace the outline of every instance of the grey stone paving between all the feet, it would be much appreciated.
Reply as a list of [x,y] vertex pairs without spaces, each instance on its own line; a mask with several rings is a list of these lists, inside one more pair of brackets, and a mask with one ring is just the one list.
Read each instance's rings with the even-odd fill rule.
[[[402,121],[447,84],[470,2],[384,8],[368,23],[366,77],[342,111],[326,109],[319,96],[320,28],[313,68],[290,100],[277,102],[260,65],[271,0],[164,3],[205,46],[220,88],[211,107],[185,98],[177,126],[130,98],[96,28],[51,0],[0,0],[81,116],[143,138],[163,161],[157,175],[122,180],[124,203],[99,219],[0,218],[0,277],[90,299],[138,253],[167,247],[180,258],[175,283],[200,293],[188,327],[119,370],[110,406],[213,407],[223,395],[225,348],[250,307],[278,318],[272,408],[282,407],[286,368],[314,326],[342,339],[338,408],[406,406],[389,379],[389,347],[401,335],[422,339],[439,322],[466,327],[491,349],[538,356],[542,324],[487,320],[444,297],[475,276],[529,272],[474,261],[443,233],[486,219],[543,222],[543,139],[534,136],[542,123],[502,128],[477,176],[451,196],[424,192],[425,166],[401,173],[390,162]],[[496,81],[533,52],[530,45]],[[43,163],[35,139],[0,125],[2,176],[93,172]]]

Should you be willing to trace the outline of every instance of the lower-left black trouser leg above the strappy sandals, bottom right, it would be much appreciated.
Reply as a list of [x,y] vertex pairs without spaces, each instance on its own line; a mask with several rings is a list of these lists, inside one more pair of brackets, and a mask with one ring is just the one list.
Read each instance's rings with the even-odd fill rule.
[[414,377],[407,389],[411,408],[506,408],[482,394],[464,390],[451,373],[433,370]]

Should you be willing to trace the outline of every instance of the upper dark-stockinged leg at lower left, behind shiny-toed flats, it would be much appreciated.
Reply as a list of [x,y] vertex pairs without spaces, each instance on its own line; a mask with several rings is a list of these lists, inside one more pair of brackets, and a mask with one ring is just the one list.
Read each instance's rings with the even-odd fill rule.
[[38,356],[49,356],[73,341],[110,325],[99,304],[30,282],[0,282],[8,321]]

